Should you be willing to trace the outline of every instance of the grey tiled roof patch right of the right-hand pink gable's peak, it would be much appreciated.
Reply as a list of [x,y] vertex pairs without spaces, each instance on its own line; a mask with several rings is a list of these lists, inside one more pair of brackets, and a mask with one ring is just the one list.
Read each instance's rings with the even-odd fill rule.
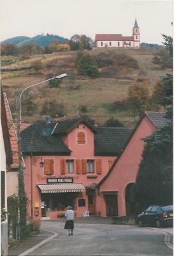
[[163,112],[145,112],[145,115],[149,117],[151,122],[157,127],[162,128],[168,124],[169,120],[165,118],[166,113]]

